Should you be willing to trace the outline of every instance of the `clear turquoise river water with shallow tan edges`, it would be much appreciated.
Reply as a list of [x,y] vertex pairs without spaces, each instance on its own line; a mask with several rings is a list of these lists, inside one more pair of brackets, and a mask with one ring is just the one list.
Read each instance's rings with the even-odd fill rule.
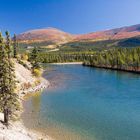
[[49,89],[28,98],[27,127],[58,140],[140,140],[140,75],[49,66]]

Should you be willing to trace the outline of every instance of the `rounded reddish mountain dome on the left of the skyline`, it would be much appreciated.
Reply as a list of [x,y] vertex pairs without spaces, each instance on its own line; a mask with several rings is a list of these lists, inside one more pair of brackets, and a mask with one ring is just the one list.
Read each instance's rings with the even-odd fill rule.
[[37,29],[24,32],[17,35],[20,42],[50,42],[50,43],[65,43],[72,39],[72,35],[65,33],[55,28]]

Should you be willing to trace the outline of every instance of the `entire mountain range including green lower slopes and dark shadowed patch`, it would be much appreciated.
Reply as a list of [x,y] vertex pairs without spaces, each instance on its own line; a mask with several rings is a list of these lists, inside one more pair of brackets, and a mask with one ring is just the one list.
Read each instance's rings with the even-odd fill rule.
[[37,29],[21,33],[17,35],[17,39],[23,46],[45,49],[55,49],[59,46],[64,50],[137,47],[140,46],[140,24],[81,35],[72,35],[55,28]]

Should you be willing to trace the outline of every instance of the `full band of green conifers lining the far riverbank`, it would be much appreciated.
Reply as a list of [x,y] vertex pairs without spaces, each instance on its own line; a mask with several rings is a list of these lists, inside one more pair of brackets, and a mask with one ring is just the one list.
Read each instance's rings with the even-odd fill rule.
[[[35,53],[36,52],[36,53]],[[35,56],[36,57],[32,57]],[[126,71],[140,71],[140,47],[112,48],[103,51],[39,52],[32,51],[30,59],[38,63],[83,62],[84,65]],[[33,64],[34,65],[34,64]]]

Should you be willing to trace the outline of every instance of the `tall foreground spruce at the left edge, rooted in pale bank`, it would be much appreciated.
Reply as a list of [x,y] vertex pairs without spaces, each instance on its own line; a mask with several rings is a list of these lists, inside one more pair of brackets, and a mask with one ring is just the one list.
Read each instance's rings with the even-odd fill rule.
[[11,55],[10,35],[6,40],[0,34],[0,109],[4,113],[4,123],[8,125],[9,117],[18,109],[18,95],[15,93],[15,71]]

